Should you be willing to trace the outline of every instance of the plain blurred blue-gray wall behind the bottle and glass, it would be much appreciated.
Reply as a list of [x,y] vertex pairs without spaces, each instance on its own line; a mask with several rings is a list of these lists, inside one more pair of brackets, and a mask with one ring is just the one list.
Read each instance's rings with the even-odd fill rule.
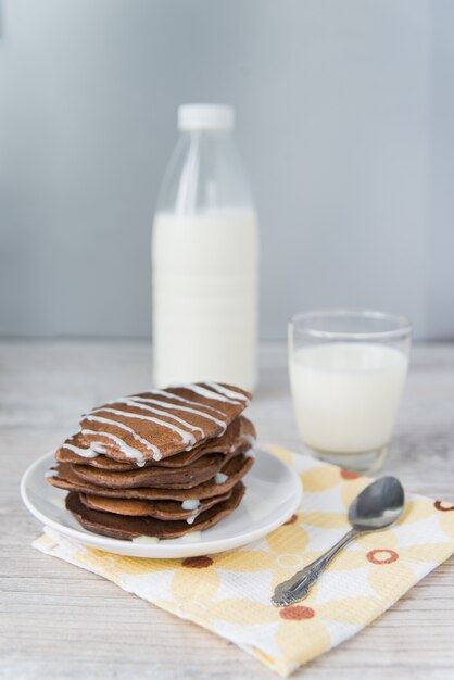
[[185,101],[230,102],[261,327],[348,305],[454,338],[454,2],[3,0],[0,333],[150,333]]

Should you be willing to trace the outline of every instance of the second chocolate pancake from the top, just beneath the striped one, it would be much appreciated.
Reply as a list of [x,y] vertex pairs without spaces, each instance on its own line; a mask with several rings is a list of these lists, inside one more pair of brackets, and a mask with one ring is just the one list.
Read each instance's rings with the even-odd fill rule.
[[[254,441],[254,426],[244,416],[239,416],[228,426],[226,432],[222,437],[206,441],[191,451],[182,451],[181,453],[177,453],[168,458],[163,458],[162,461],[149,461],[144,466],[184,467],[207,453],[228,454],[234,451],[238,451],[238,453],[245,453]],[[84,455],[76,453],[75,450],[81,451]],[[90,457],[87,457],[87,455]],[[89,465],[91,467],[105,470],[116,470],[119,473],[137,469],[137,465],[134,462],[114,461],[113,458],[109,458],[106,455],[96,454],[96,452],[90,449],[89,442],[86,441],[84,435],[80,432],[77,432],[77,435],[73,435],[66,439],[66,441],[56,451],[55,458],[59,463]]]

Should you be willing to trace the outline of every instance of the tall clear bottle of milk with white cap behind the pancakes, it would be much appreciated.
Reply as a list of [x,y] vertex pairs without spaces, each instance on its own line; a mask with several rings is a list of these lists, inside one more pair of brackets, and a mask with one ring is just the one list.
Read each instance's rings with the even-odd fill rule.
[[179,108],[152,232],[154,382],[256,381],[258,229],[234,110]]

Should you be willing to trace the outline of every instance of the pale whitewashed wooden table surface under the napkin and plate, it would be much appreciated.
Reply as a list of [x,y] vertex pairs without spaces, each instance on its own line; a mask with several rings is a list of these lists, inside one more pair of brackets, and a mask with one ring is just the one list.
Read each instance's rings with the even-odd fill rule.
[[[30,547],[25,468],[74,431],[88,406],[148,388],[150,347],[134,341],[0,344],[0,678],[276,678],[235,645]],[[260,441],[298,448],[283,345],[261,350],[250,408]],[[454,500],[454,344],[414,349],[384,471]],[[300,670],[305,680],[454,678],[454,561],[366,630]]]

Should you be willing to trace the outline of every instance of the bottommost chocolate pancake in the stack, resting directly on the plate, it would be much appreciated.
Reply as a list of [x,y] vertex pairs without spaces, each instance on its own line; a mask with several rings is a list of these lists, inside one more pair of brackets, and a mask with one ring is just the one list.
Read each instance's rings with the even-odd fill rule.
[[141,536],[159,539],[176,539],[190,531],[200,531],[217,524],[238,507],[244,494],[244,484],[238,482],[229,499],[201,513],[192,525],[187,521],[164,521],[153,517],[126,517],[86,507],[78,493],[68,493],[66,508],[88,531],[102,533],[115,539],[135,539]]

